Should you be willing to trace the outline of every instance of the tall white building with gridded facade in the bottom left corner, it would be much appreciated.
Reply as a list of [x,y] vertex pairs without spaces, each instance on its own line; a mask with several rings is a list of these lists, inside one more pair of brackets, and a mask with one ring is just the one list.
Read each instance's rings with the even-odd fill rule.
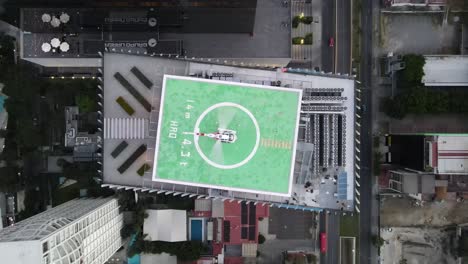
[[72,200],[1,230],[1,263],[104,263],[122,226],[117,199]]

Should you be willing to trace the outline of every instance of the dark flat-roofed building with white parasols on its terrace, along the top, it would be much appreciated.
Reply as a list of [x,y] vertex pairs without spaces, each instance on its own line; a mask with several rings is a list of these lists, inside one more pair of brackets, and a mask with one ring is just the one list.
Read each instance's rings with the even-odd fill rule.
[[89,8],[23,8],[20,57],[61,67],[58,72],[67,67],[72,72],[88,68],[89,73],[101,66],[99,53],[105,51],[267,66],[290,61],[291,29],[284,26],[291,19],[289,5],[268,0],[140,4],[96,1]]

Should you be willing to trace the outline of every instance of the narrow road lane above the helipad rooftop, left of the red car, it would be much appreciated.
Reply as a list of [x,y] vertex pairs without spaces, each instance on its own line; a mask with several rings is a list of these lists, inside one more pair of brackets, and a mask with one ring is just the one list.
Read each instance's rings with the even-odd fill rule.
[[328,40],[335,37],[335,1],[322,1],[322,71],[333,72],[335,54]]

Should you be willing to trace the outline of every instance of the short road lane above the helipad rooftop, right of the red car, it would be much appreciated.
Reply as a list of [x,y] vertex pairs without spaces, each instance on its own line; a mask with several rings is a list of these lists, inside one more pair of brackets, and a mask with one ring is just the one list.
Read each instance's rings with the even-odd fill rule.
[[351,1],[336,0],[335,71],[351,72]]

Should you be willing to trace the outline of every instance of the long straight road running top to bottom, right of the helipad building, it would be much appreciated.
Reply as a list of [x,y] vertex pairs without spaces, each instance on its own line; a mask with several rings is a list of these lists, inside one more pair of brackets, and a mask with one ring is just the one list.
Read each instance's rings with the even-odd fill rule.
[[[375,2],[374,2],[375,1]],[[372,195],[373,178],[371,173],[372,153],[372,7],[378,0],[362,0],[361,13],[361,69],[360,81],[362,82],[361,103],[366,106],[366,111],[361,113],[361,171],[359,201],[360,208],[360,263],[366,264],[371,261],[371,208],[376,202]],[[378,3],[377,3],[378,4]]]

